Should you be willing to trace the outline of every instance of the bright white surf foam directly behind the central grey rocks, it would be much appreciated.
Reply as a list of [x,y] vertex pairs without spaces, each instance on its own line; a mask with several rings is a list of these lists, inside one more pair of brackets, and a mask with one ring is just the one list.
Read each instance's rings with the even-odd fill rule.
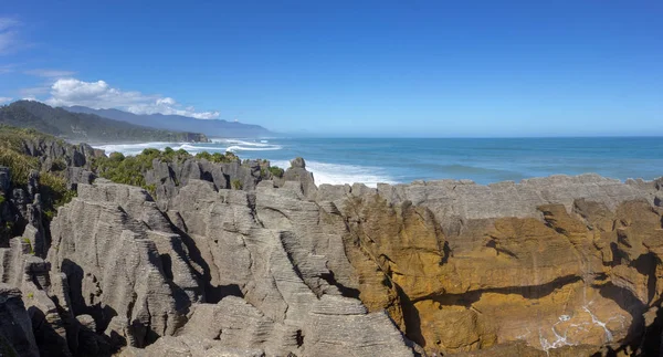
[[[271,161],[272,166],[288,168],[290,161]],[[345,185],[364,183],[368,187],[377,187],[378,183],[397,183],[381,169],[375,167],[327,164],[318,161],[306,161],[306,169],[313,172],[315,185]]]

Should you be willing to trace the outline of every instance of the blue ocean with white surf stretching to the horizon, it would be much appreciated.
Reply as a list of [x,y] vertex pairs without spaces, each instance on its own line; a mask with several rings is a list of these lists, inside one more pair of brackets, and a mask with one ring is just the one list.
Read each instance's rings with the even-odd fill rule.
[[301,156],[316,183],[407,183],[471,179],[487,185],[557,174],[596,172],[625,180],[663,176],[663,137],[603,138],[270,138],[212,139],[208,144],[98,145],[106,154],[135,155],[171,147],[191,154],[235,153],[290,167]]

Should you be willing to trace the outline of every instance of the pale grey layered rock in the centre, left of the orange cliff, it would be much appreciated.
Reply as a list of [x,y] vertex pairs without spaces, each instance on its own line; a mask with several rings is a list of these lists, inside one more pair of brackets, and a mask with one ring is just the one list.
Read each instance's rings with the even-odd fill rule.
[[[361,346],[369,348],[376,343],[383,344],[385,350],[392,349],[394,356],[411,355],[386,314],[367,314],[356,298],[327,300],[340,297],[335,285],[338,281],[345,286],[356,284],[344,251],[341,235],[346,227],[333,202],[308,201],[299,181],[282,188],[259,185],[255,192],[217,192],[210,182],[190,180],[169,208],[169,216],[181,220],[179,225],[186,228],[209,264],[211,284],[219,288],[238,286],[243,295],[225,296],[218,304],[193,305],[179,338],[198,336],[234,348],[259,347],[269,356],[316,356],[326,342],[312,339],[316,343],[311,353],[305,329],[314,306],[318,306],[319,312],[326,309],[332,316],[351,315],[339,317],[337,323],[356,324],[367,334],[390,332],[385,340],[352,336],[339,353],[362,350]],[[320,224],[322,220],[326,223]],[[332,275],[335,280],[330,281]],[[372,326],[383,323],[386,327]],[[311,333],[322,335],[317,329]]]

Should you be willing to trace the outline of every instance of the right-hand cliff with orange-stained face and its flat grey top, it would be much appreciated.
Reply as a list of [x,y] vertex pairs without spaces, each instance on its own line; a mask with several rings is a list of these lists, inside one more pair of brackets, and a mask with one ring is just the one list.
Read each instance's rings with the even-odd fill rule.
[[[546,351],[638,345],[643,314],[660,305],[660,181],[551,177],[377,192],[346,206],[355,246],[388,279],[364,280],[361,297],[380,307],[394,284],[399,300],[382,307],[398,323],[400,301],[406,335],[429,353],[516,340]],[[349,256],[360,276],[376,271]]]

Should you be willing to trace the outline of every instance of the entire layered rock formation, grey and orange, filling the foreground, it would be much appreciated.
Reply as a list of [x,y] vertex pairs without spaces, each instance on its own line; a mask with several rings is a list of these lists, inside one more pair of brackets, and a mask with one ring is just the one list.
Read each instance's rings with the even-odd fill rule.
[[368,188],[315,186],[303,160],[273,180],[256,170],[155,160],[154,196],[76,182],[43,253],[21,237],[0,248],[0,348],[660,354],[663,179]]

